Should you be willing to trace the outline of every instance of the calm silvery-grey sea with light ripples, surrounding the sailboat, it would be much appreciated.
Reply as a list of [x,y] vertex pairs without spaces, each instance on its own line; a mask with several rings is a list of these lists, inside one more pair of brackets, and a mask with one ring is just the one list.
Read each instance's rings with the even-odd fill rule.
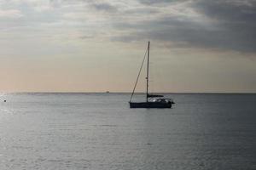
[[[0,169],[256,169],[256,94],[1,94]],[[4,103],[3,99],[7,99]]]

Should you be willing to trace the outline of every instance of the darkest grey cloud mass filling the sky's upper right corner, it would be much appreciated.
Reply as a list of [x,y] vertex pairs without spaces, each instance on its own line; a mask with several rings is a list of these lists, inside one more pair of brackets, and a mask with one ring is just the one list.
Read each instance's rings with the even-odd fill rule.
[[194,8],[218,21],[220,29],[208,32],[211,33],[208,35],[211,39],[207,38],[205,44],[216,48],[256,52],[255,1],[200,1],[195,3]]

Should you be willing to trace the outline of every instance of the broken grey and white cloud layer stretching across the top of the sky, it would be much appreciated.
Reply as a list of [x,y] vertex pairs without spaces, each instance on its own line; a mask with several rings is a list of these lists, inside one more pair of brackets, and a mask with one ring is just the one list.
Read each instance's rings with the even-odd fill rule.
[[2,30],[65,27],[82,40],[256,52],[254,0],[9,0],[0,3],[0,20]]

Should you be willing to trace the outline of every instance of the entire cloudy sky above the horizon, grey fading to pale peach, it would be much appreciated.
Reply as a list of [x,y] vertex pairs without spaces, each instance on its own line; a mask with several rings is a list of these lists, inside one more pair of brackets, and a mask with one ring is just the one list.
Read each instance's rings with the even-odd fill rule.
[[0,92],[131,92],[150,41],[152,92],[256,93],[255,21],[255,0],[0,0]]

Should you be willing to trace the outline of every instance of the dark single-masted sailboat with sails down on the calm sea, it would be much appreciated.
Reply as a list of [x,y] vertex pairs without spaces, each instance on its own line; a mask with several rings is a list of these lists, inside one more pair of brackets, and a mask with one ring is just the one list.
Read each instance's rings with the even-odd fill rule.
[[143,63],[144,60],[146,59],[147,56],[147,84],[146,84],[146,100],[143,102],[132,102],[131,99],[133,97],[133,94],[135,92],[138,78],[140,77],[142,68],[143,68],[143,63],[140,67],[138,76],[137,76],[137,81],[135,82],[135,86],[133,88],[132,94],[131,94],[131,99],[129,101],[130,108],[172,108],[172,105],[174,104],[174,101],[169,98],[164,98],[163,95],[159,94],[149,94],[148,93],[148,82],[149,82],[149,47],[150,47],[150,42],[148,42],[148,48],[147,51],[144,55]]

